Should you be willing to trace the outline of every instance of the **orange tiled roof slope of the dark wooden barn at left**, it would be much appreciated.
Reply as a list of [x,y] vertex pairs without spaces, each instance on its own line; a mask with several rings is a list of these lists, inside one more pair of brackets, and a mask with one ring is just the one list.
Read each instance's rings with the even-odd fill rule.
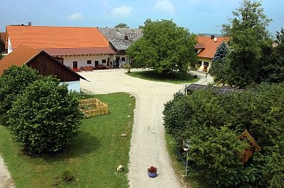
[[22,66],[33,59],[40,51],[31,47],[19,46],[9,55],[0,60],[0,75],[12,65]]

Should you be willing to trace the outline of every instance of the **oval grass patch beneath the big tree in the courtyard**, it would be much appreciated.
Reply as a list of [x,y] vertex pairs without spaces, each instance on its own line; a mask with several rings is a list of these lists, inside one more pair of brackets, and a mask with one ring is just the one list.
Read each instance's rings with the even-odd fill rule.
[[154,71],[135,71],[126,73],[129,76],[133,76],[136,78],[141,78],[148,81],[163,81],[168,83],[175,83],[175,84],[181,84],[181,83],[195,83],[199,80],[199,78],[193,78],[191,74],[181,74],[181,73],[173,73],[168,76],[161,76],[155,74]]

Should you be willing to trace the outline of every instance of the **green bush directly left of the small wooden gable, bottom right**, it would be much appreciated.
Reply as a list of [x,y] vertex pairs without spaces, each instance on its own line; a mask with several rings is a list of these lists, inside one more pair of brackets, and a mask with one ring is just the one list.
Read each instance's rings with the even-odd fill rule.
[[241,157],[248,143],[227,127],[205,127],[190,138],[189,159],[198,174],[214,187],[233,187],[246,182]]

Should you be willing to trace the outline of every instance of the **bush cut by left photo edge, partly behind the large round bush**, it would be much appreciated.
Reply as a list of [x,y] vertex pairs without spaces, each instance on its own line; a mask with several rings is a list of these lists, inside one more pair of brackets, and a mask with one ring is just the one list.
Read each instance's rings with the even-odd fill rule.
[[16,100],[23,90],[40,78],[38,71],[29,68],[26,65],[17,67],[11,66],[4,70],[0,77],[0,123],[8,126],[7,111],[11,109],[12,102]]

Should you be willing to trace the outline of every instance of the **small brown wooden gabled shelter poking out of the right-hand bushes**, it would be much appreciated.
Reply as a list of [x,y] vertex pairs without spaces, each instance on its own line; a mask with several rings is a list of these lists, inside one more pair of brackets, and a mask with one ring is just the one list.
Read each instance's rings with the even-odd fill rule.
[[251,158],[251,155],[253,155],[253,152],[255,150],[261,151],[261,146],[259,146],[258,143],[256,142],[256,140],[253,139],[253,136],[251,136],[251,134],[249,134],[249,131],[247,129],[244,130],[244,132],[240,136],[238,136],[238,138],[240,140],[246,138],[246,139],[248,139],[249,144],[250,144],[250,148],[246,148],[245,151],[244,151],[244,155],[243,155],[243,158],[242,158],[242,162],[243,162],[243,165],[244,165],[244,163],[249,161],[249,158]]

